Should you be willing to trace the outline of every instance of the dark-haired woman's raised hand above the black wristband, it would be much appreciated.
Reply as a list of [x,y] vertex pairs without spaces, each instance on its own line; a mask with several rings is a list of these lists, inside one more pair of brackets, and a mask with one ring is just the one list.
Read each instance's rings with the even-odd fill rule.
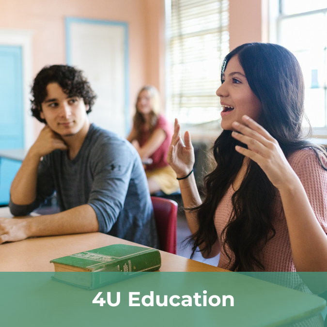
[[187,176],[194,165],[194,149],[188,132],[184,135],[185,144],[181,138],[181,126],[175,119],[174,134],[167,154],[167,162],[176,172],[177,178]]

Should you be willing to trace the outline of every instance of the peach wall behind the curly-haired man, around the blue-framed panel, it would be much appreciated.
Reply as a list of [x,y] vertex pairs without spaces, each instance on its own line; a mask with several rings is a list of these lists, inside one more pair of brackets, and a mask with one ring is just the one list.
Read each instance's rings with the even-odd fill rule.
[[[164,0],[0,0],[0,28],[29,29],[33,75],[47,64],[65,63],[66,16],[125,21],[129,29],[130,109],[146,83],[161,89]],[[161,91],[161,90],[160,90]],[[41,124],[35,123],[38,134]]]

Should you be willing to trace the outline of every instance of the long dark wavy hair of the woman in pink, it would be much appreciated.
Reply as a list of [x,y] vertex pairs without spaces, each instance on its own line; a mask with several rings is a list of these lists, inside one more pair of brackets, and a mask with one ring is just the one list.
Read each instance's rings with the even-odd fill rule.
[[[305,117],[304,80],[295,56],[275,44],[244,44],[226,56],[221,82],[233,56],[238,57],[252,92],[262,103],[258,123],[279,142],[286,158],[296,150],[311,147],[321,166],[327,170],[318,154],[326,156],[326,151],[301,134]],[[242,167],[244,156],[235,151],[235,145],[245,144],[235,140],[231,133],[224,130],[215,141],[213,155],[217,167],[205,177],[203,203],[192,209],[197,211],[199,221],[197,233],[190,237],[194,239],[192,256],[203,243],[204,250],[211,252],[218,239],[214,223],[217,206]],[[229,258],[226,268],[233,271],[265,269],[260,252],[276,233],[273,225],[275,197],[276,188],[259,165],[251,160],[239,189],[232,197],[233,213],[221,234],[221,248]]]

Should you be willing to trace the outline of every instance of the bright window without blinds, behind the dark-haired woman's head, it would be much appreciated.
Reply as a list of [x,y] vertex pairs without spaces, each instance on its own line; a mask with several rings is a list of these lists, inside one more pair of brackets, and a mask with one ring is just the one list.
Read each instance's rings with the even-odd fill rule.
[[278,43],[301,65],[305,110],[319,134],[327,129],[327,1],[280,0],[279,6]]

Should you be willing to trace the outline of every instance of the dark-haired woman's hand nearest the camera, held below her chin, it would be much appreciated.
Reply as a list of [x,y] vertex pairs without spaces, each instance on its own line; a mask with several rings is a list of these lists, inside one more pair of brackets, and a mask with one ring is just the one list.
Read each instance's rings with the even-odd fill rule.
[[233,123],[234,139],[248,145],[248,149],[236,146],[240,154],[255,161],[269,178],[270,182],[279,190],[289,187],[297,181],[297,175],[288,163],[278,141],[275,140],[261,125],[244,115],[244,122]]

